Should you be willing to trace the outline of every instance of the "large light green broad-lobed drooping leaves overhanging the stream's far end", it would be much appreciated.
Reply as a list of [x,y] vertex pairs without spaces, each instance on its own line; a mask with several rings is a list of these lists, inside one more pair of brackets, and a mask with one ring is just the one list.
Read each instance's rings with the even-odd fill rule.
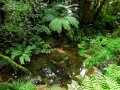
[[52,31],[56,31],[60,34],[62,32],[62,27],[68,32],[73,32],[70,25],[78,28],[78,21],[74,17],[57,18],[51,21],[49,27]]

